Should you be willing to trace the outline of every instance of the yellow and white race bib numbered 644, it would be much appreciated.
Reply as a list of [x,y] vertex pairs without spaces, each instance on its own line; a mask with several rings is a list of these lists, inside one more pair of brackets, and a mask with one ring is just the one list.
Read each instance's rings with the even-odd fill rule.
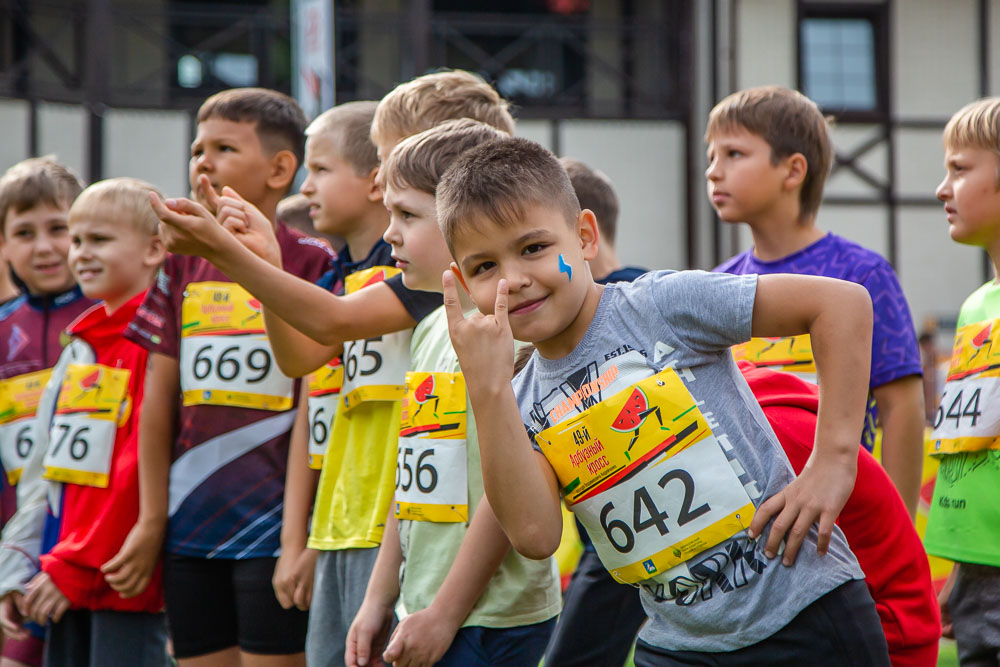
[[[996,332],[996,333],[994,333]],[[948,379],[934,416],[931,455],[1000,449],[1000,319],[955,334]]]

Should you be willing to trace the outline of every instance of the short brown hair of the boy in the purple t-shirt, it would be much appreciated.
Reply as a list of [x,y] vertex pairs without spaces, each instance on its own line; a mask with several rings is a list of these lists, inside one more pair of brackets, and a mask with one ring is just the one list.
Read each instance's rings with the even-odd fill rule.
[[806,177],[799,193],[799,218],[819,210],[823,184],[833,165],[833,144],[826,118],[815,102],[781,86],[747,88],[715,105],[708,115],[705,141],[733,128],[764,139],[774,164],[801,153],[806,159]]

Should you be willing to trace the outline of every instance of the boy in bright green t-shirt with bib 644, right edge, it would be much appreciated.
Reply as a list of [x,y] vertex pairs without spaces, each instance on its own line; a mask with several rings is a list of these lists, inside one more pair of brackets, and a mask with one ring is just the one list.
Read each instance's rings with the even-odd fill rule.
[[[1000,97],[966,105],[944,129],[945,177],[937,188],[951,238],[985,250],[1000,267]],[[959,661],[996,664],[1000,653],[1000,403],[993,339],[1000,285],[969,295],[958,316],[948,380],[931,435],[940,458],[927,518],[927,552],[955,561],[938,597]]]

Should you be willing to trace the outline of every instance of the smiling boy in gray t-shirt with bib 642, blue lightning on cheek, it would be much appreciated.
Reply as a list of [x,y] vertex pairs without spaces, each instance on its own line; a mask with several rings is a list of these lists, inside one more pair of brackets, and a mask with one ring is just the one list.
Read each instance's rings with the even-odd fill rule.
[[[864,289],[703,272],[597,285],[593,215],[554,157],[523,139],[459,158],[437,208],[457,261],[445,305],[486,495],[513,546],[556,549],[562,496],[612,576],[642,591],[651,622],[638,665],[692,652],[888,664],[864,575],[833,525],[865,408]],[[487,314],[463,317],[456,278]],[[812,336],[824,394],[796,478],[728,348],[799,333]],[[497,353],[512,338],[537,349],[513,391],[513,358]]]

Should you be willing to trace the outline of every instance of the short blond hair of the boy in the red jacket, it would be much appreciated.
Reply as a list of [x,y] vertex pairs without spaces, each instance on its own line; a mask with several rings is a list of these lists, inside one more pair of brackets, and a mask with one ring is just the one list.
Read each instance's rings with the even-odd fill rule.
[[80,193],[69,209],[69,224],[83,219],[127,221],[136,229],[156,236],[160,221],[149,204],[149,193],[163,194],[150,183],[137,178],[109,178],[98,181]]

